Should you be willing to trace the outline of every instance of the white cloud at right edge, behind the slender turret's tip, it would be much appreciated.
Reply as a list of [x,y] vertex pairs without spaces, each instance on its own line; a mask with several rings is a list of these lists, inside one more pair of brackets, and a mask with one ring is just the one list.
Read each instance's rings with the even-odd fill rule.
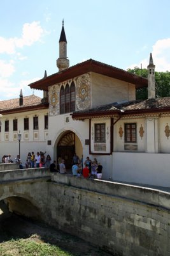
[[[158,40],[155,42],[152,48],[152,57],[155,70],[158,72],[170,71],[170,38]],[[139,63],[134,63],[127,68],[141,67],[141,63],[143,68],[147,68],[149,58],[150,52],[148,52],[147,58],[141,60]]]

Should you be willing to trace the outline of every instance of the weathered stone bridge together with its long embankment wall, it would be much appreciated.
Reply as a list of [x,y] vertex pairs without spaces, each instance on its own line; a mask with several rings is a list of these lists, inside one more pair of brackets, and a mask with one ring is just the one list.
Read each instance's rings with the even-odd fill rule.
[[164,191],[35,168],[1,171],[0,200],[115,255],[170,255],[170,194]]

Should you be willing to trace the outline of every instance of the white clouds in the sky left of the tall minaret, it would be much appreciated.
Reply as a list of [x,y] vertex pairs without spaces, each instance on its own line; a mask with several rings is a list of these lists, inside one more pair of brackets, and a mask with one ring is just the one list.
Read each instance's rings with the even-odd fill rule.
[[[25,60],[27,56],[22,56],[20,52],[17,52],[18,48],[30,46],[34,44],[34,42],[40,41],[44,33],[45,31],[43,31],[39,22],[25,23],[20,38],[0,37],[0,54],[13,54],[13,60]],[[15,61],[13,60],[0,60],[0,100],[18,98],[20,89],[23,90],[24,96],[31,95],[32,90],[28,84],[39,80],[39,77],[36,77],[27,81],[11,82],[10,77],[15,72]],[[23,73],[22,75],[25,74]],[[43,93],[38,90],[34,90],[34,94],[39,95],[39,97],[43,95]]]

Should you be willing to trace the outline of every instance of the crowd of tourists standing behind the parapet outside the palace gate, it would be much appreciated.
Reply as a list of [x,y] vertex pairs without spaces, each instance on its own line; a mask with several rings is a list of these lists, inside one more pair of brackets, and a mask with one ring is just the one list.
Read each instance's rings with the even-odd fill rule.
[[[50,172],[59,172],[59,173],[67,173],[65,160],[62,159],[62,156],[59,156],[56,161],[51,163],[52,159],[49,154],[45,157],[46,152],[29,152],[26,157],[25,164],[20,160],[20,156],[17,155],[14,161],[11,159],[11,155],[4,155],[2,157],[2,163],[18,163],[20,169],[23,168],[41,168],[46,167],[50,168]],[[73,176],[93,179],[101,179],[103,166],[101,163],[97,162],[97,159],[94,158],[91,160],[89,156],[87,156],[86,160],[83,162],[83,156],[81,159],[74,153],[72,159],[72,174]]]

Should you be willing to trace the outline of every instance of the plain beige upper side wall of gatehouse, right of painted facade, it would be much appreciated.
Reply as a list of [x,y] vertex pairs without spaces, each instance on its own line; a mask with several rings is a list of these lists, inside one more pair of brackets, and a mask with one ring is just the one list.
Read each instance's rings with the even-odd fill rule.
[[136,99],[135,85],[92,72],[92,107]]

